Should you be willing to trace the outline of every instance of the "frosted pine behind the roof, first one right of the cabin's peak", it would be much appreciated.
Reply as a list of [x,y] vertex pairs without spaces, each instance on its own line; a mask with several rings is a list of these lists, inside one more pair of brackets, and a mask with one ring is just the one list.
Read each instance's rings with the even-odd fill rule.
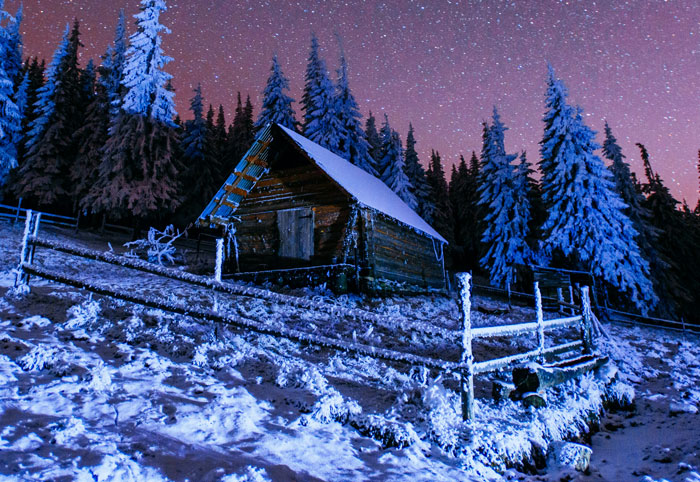
[[340,124],[335,104],[335,86],[328,77],[326,63],[319,56],[318,39],[312,35],[301,98],[304,136],[331,152],[339,153],[341,139],[347,134]]

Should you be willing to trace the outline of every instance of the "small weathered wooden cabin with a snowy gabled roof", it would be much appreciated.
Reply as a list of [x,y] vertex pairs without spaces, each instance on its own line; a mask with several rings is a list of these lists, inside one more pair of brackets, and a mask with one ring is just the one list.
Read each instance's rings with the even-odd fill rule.
[[338,291],[444,289],[447,243],[382,181],[280,125],[260,132],[198,219],[235,236],[233,277]]

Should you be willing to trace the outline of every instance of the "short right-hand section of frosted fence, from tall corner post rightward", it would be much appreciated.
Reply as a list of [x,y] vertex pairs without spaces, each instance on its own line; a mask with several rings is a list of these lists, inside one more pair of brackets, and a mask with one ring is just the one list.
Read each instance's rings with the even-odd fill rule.
[[[471,326],[471,295],[470,295],[471,275],[469,273],[457,273],[457,286],[459,292],[459,307],[462,322],[462,354],[460,362],[461,370],[461,396],[462,396],[462,418],[469,420],[474,417],[474,376],[484,373],[492,373],[515,363],[538,360],[544,362],[545,357],[559,355],[577,349],[590,352],[592,349],[591,331],[591,306],[588,287],[581,288],[582,309],[581,315],[559,318],[544,321],[542,311],[542,294],[539,284],[535,283],[535,309],[537,310],[537,321],[534,323],[520,323],[517,325],[499,325],[472,328]],[[562,328],[568,326],[580,326],[581,340],[570,343],[563,343],[553,347],[545,348],[545,330]],[[515,336],[525,333],[537,334],[537,348],[525,353],[519,353],[492,360],[474,361],[472,343],[474,339],[489,338],[494,336]]]

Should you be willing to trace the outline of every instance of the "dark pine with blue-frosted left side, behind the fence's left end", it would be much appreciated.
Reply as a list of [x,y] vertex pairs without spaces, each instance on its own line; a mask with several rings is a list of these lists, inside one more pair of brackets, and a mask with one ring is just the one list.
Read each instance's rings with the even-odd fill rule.
[[36,120],[27,139],[27,153],[14,190],[37,205],[71,212],[70,169],[77,154],[74,133],[80,128],[80,23],[66,27],[38,94]]

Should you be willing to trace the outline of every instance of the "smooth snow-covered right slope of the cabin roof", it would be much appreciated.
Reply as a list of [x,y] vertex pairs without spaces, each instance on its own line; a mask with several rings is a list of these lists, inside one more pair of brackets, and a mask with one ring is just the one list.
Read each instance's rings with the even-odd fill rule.
[[307,154],[309,159],[360,204],[447,243],[445,238],[382,181],[306,137],[279,124],[277,126]]

